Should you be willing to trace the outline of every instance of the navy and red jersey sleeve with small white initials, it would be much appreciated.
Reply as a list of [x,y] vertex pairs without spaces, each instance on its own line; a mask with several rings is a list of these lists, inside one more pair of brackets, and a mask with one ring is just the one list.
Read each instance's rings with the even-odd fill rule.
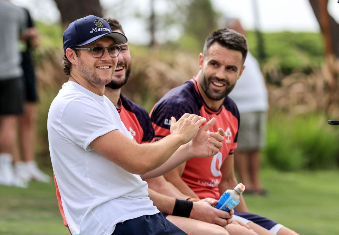
[[171,117],[180,119],[184,113],[193,113],[192,109],[178,101],[163,100],[157,103],[151,111],[155,140],[160,140],[171,133]]

